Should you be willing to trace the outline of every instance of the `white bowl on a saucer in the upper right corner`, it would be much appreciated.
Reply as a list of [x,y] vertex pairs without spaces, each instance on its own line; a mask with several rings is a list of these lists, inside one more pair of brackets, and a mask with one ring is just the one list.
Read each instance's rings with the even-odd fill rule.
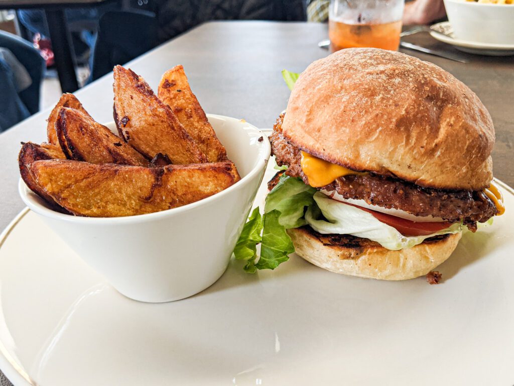
[[456,39],[514,44],[514,5],[444,0]]

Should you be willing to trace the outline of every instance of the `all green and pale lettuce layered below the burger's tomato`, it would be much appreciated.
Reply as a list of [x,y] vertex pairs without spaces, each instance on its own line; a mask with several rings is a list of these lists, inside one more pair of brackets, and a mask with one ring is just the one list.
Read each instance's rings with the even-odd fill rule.
[[[305,210],[307,208],[307,210]],[[491,220],[482,226],[488,225]],[[403,236],[394,227],[377,220],[355,206],[332,200],[298,178],[283,174],[266,197],[264,215],[259,208],[251,213],[234,249],[238,260],[246,261],[245,271],[275,269],[295,248],[286,230],[309,224],[322,234],[347,234],[378,242],[390,250],[411,248],[426,238],[465,229],[462,223],[427,236]],[[260,256],[257,245],[261,243]]]

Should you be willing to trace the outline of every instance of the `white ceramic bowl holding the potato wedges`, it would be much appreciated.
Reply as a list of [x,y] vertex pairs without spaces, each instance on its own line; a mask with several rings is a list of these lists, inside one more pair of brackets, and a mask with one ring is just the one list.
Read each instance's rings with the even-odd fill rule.
[[194,295],[225,272],[270,154],[268,138],[254,126],[208,118],[241,175],[214,196],[139,216],[76,217],[50,209],[20,179],[22,200],[123,295],[152,303]]

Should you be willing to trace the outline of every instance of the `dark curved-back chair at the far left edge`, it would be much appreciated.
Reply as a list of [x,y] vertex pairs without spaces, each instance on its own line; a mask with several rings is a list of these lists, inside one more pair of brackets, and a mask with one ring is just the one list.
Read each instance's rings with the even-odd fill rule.
[[[41,90],[41,81],[43,79],[44,70],[45,70],[45,61],[39,54],[38,50],[36,50],[31,43],[28,41],[13,35],[12,33],[0,31],[0,47],[7,48],[12,52],[14,57],[25,67],[30,78],[32,79],[32,84],[27,87],[27,89],[18,93],[18,97],[20,101],[23,103],[24,107],[27,109],[28,113],[34,114],[40,109],[40,90]],[[3,75],[6,75],[8,71],[5,66],[0,67],[3,72]],[[4,94],[4,93],[2,93]],[[7,97],[6,94],[3,95],[4,98]],[[2,102],[2,100],[0,100]],[[4,100],[3,103],[13,102]],[[11,117],[11,119],[7,119],[7,115]],[[26,118],[25,114],[20,114],[16,119],[12,117],[12,111],[6,111],[3,108],[0,109],[0,115],[2,115],[4,125],[5,122],[9,122],[11,125],[16,124],[20,120]],[[7,127],[0,128],[2,130],[7,129]]]

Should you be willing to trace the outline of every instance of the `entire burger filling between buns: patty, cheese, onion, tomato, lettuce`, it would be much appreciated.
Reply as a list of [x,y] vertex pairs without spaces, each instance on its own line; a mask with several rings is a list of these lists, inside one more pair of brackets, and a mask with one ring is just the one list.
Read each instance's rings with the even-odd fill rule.
[[[280,125],[281,119],[270,142],[283,170],[268,183],[264,214],[254,209],[234,248],[235,258],[246,261],[248,272],[274,269],[288,260],[295,251],[288,229],[308,227],[318,238],[368,240],[401,250],[466,227],[474,232],[478,224],[501,214],[500,193],[492,187],[487,192],[430,189],[324,161],[320,166],[287,141]],[[310,173],[313,168],[322,173]]]

